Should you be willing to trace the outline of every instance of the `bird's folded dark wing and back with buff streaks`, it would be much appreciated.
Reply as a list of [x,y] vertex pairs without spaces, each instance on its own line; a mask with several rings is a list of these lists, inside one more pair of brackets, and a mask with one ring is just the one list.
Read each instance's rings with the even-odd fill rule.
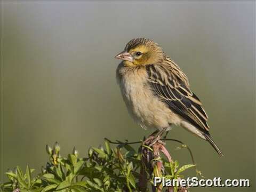
[[190,91],[187,76],[170,59],[163,65],[147,65],[148,81],[155,94],[176,114],[209,134],[201,101]]

